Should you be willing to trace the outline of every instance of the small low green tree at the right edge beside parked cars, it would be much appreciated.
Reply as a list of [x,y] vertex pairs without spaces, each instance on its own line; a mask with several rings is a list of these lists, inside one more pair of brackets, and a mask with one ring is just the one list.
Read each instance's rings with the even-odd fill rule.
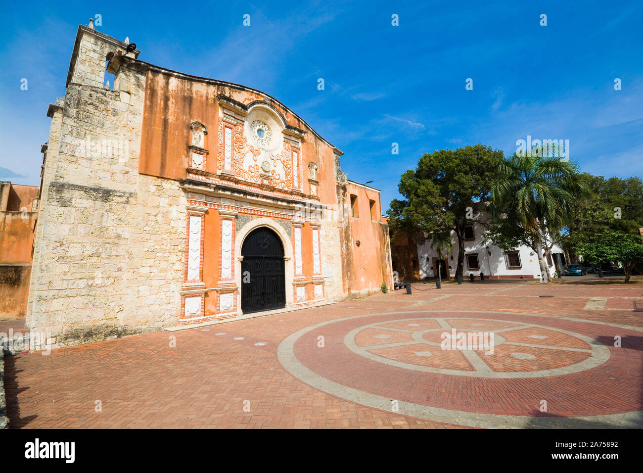
[[625,267],[625,282],[629,283],[632,268],[643,261],[643,241],[639,235],[605,232],[592,243],[580,243],[576,253],[586,263],[601,264],[621,261]]

